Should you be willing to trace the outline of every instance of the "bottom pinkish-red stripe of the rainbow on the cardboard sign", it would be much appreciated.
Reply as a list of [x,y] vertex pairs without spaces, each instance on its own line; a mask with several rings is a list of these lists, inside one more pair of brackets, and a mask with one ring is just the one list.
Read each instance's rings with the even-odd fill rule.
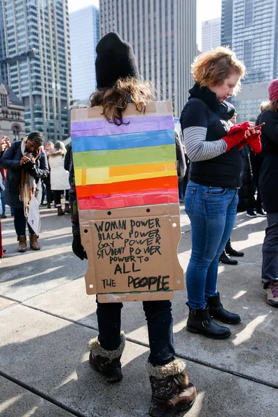
[[177,188],[167,191],[152,190],[151,193],[114,194],[109,197],[82,197],[78,199],[79,210],[109,210],[112,208],[149,206],[154,204],[169,204],[179,202]]

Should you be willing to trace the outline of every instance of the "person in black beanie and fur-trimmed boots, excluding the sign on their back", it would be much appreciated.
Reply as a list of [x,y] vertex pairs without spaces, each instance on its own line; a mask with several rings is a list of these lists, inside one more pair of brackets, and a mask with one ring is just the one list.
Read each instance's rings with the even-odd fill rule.
[[[96,74],[97,92],[91,97],[91,106],[101,106],[106,120],[119,126],[119,132],[125,129],[128,132],[128,127],[135,122],[123,120],[126,106],[134,103],[138,112],[144,112],[145,104],[153,101],[153,96],[149,83],[140,79],[131,46],[117,33],[108,33],[99,41]],[[104,120],[97,122],[99,126],[101,122],[103,124]],[[74,161],[76,162],[76,159]],[[90,163],[88,159],[86,161]],[[177,182],[176,171],[173,175]],[[84,259],[86,254],[81,245],[72,163],[70,183],[70,207],[74,234],[72,249],[76,256]],[[147,363],[152,386],[149,414],[153,417],[174,416],[177,411],[187,410],[192,406],[196,389],[188,382],[183,361],[174,358],[171,302],[169,300],[145,301],[143,307],[147,318],[151,351]],[[121,309],[121,302],[97,302],[99,336],[89,343],[92,368],[103,374],[106,381],[110,383],[122,379],[120,359],[125,338],[120,332]]]

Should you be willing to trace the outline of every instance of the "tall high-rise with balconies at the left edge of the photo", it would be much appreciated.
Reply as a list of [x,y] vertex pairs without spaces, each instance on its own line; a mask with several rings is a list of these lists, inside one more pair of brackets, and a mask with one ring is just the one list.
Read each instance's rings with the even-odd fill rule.
[[67,0],[0,2],[1,75],[25,107],[25,131],[70,136],[72,96]]

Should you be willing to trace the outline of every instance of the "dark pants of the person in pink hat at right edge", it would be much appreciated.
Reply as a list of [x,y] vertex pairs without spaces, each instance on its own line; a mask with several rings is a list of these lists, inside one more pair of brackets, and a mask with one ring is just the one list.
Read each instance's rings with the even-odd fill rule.
[[266,288],[270,281],[278,281],[278,212],[267,213],[268,227],[263,240],[261,279]]

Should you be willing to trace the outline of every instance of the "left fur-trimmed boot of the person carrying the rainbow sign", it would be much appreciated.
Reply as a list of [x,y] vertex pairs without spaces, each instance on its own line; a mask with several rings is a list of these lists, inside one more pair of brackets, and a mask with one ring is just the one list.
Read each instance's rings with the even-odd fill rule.
[[122,379],[122,363],[120,361],[126,338],[121,332],[120,346],[115,350],[106,350],[99,344],[98,338],[93,338],[89,342],[90,347],[90,366],[97,372],[102,373],[106,382],[113,384]]

